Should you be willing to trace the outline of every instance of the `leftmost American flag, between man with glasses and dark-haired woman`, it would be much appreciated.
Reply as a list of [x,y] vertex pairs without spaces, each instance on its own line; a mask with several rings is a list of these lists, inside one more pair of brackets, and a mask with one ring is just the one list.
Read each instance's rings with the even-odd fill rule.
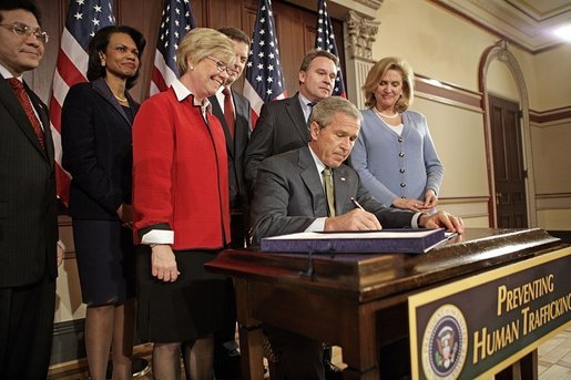
[[88,80],[89,41],[99,29],[114,23],[113,0],[70,1],[50,99],[50,127],[55,147],[58,196],[65,205],[69,201],[71,176],[61,167],[61,107],[68,90],[73,84]]

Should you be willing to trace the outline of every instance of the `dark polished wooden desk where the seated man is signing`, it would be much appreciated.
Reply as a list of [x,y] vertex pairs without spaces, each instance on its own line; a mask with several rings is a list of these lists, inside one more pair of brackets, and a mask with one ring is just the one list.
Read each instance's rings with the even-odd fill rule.
[[226,250],[207,267],[235,279],[243,379],[263,379],[264,322],[340,346],[345,379],[376,380],[379,346],[408,335],[408,296],[561,246],[542,229],[473,228],[417,256]]

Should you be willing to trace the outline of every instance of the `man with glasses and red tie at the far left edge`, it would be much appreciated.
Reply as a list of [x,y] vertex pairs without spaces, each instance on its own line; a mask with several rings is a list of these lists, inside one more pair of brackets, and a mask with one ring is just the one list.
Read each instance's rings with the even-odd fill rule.
[[[55,305],[54,152],[45,105],[22,83],[47,34],[31,1],[0,2],[0,377],[45,379]],[[23,85],[23,86],[22,86]]]

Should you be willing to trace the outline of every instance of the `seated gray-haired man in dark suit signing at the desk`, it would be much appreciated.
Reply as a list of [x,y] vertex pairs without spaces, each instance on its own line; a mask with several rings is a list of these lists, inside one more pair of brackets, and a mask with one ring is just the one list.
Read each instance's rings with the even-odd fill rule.
[[[446,227],[463,232],[461,219],[445,212],[427,215],[388,208],[368,194],[357,173],[343,164],[357,140],[360,122],[360,112],[349,101],[338,96],[323,100],[312,114],[308,146],[262,163],[252,202],[256,242],[308,230]],[[332,206],[327,178],[320,174],[325,170],[333,176]],[[286,379],[325,378],[320,342],[277,328],[265,328],[265,332]]]

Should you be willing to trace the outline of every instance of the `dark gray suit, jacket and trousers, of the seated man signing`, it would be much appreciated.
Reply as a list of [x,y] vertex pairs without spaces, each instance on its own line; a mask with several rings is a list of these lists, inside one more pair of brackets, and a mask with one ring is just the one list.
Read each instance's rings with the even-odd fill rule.
[[[282,153],[265,160],[257,171],[252,202],[254,240],[282,234],[300,233],[316,218],[327,216],[324,188],[309,147]],[[343,215],[355,208],[355,197],[375,214],[383,227],[410,226],[415,213],[388,208],[363,187],[357,172],[341,164],[333,170],[335,212]],[[274,327],[264,327],[272,349],[282,357],[281,367],[290,379],[324,379],[322,343]],[[330,358],[329,358],[330,360]]]

